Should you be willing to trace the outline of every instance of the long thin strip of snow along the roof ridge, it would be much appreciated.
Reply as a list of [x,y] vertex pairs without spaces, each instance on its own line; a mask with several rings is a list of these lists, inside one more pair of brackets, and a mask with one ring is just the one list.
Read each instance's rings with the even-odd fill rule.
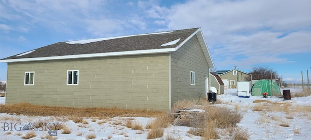
[[[173,33],[173,31],[140,34],[140,35],[157,35],[157,34],[167,34],[167,33]],[[110,40],[110,39],[117,39],[117,38],[123,38],[123,37],[130,37],[130,36],[138,36],[138,35],[125,35],[125,36],[116,36],[116,37],[105,37],[105,38],[86,39],[86,40],[78,40],[78,41],[68,41],[66,43],[68,43],[68,44],[86,44],[86,43],[92,43],[92,42],[104,41],[104,40]]]

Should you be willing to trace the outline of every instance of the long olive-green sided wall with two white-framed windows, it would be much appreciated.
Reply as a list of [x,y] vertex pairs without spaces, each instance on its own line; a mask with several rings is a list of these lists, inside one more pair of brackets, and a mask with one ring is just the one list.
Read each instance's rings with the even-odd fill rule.
[[[168,69],[169,53],[8,63],[6,103],[169,109]],[[67,70],[79,70],[79,85],[67,86]]]

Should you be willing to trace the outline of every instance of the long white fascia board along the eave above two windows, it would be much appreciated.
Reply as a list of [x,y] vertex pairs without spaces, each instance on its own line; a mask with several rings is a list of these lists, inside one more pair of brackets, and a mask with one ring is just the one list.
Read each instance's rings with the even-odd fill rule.
[[91,58],[91,57],[120,56],[120,55],[138,55],[138,54],[151,54],[151,53],[169,53],[169,52],[174,52],[174,51],[175,51],[175,48],[165,48],[165,49],[151,49],[151,50],[111,52],[111,53],[91,53],[91,54],[77,54],[77,55],[64,55],[64,56],[51,56],[51,57],[37,57],[37,58],[5,59],[5,60],[0,60],[0,63],[74,59],[74,58]]

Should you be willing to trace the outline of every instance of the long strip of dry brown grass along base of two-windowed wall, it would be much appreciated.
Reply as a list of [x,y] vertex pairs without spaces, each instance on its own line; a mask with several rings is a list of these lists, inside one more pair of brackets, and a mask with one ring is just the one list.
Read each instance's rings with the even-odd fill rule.
[[74,108],[74,107],[64,107],[64,106],[31,105],[29,103],[0,105],[0,112],[8,113],[8,114],[14,114],[14,113],[23,114],[27,116],[69,116],[69,118],[72,116],[87,117],[87,118],[99,117],[99,116],[111,117],[111,118],[116,117],[116,116],[156,117],[158,114],[163,113],[163,111],[147,110],[147,109],[121,109],[121,108],[116,108],[116,107]]

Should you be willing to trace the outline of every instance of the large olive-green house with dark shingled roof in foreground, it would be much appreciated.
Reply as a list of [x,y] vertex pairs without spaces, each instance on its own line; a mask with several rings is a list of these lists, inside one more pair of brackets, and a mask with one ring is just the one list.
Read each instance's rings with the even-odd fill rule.
[[201,28],[58,42],[4,59],[6,104],[168,110],[207,96]]

